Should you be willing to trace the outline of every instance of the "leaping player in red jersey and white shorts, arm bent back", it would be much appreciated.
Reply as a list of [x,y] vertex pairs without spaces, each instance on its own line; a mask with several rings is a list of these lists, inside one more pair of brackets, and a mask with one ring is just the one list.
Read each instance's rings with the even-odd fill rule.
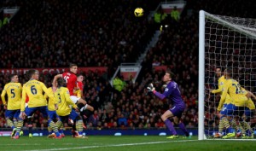
[[[57,78],[64,78],[67,83],[67,89],[69,90],[71,100],[75,104],[80,104],[80,103],[84,104],[84,107],[81,107],[80,111],[82,112],[85,109],[93,111],[94,108],[91,107],[89,104],[87,104],[87,102],[84,99],[74,95],[74,91],[79,90],[79,87],[77,86],[76,73],[78,73],[78,66],[76,64],[71,64],[69,66],[69,72],[55,75],[53,83],[55,84]],[[56,87],[56,85],[54,86]]]

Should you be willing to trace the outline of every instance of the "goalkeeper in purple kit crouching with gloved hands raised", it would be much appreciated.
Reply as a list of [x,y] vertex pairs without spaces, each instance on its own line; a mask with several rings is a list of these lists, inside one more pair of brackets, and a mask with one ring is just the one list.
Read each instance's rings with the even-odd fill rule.
[[164,114],[161,115],[161,119],[165,122],[166,127],[172,133],[172,136],[168,136],[167,138],[171,139],[178,138],[178,135],[169,118],[173,118],[173,122],[179,126],[179,128],[184,132],[185,136],[189,136],[189,132],[186,130],[183,122],[179,120],[186,106],[181,96],[180,90],[178,89],[178,85],[175,81],[172,80],[172,78],[174,78],[174,74],[170,71],[166,71],[166,74],[163,77],[163,82],[166,84],[166,89],[163,94],[157,92],[153,84],[148,84],[147,87],[149,92],[153,92],[154,95],[159,97],[161,100],[167,97],[170,98],[170,100],[173,102],[172,108],[168,109]]

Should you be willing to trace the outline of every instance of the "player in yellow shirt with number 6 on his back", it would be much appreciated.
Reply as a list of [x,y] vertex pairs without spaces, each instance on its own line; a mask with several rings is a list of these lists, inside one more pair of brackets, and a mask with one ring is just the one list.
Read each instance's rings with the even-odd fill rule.
[[[20,118],[25,119],[26,116],[32,116],[37,110],[43,114],[44,119],[48,119],[47,113],[47,102],[44,98],[43,92],[49,96],[50,99],[55,102],[55,97],[52,93],[47,90],[44,83],[38,81],[39,73],[36,70],[29,70],[27,72],[28,77],[30,78],[26,84],[23,85],[21,106],[20,106]],[[29,102],[25,108],[26,95],[29,97]],[[48,120],[49,125],[55,125],[53,121]],[[16,134],[20,131],[17,130]],[[58,134],[58,133],[57,133]],[[16,135],[15,135],[16,136]],[[56,136],[56,138],[61,138],[61,135]]]

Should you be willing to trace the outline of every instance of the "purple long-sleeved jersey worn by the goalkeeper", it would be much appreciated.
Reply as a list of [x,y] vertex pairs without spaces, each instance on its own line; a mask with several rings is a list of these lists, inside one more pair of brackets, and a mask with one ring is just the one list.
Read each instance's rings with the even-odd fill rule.
[[165,92],[163,94],[155,92],[154,95],[158,96],[161,100],[166,97],[169,98],[172,101],[173,106],[181,108],[185,107],[185,103],[180,94],[180,90],[178,89],[178,85],[174,81],[171,81],[169,84],[167,84]]

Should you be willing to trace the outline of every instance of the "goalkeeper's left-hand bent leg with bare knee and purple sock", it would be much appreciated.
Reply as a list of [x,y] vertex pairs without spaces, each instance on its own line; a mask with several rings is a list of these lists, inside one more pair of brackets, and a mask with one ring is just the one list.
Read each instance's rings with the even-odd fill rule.
[[171,120],[168,119],[168,118],[172,118],[174,116],[172,113],[173,109],[175,109],[175,107],[172,107],[171,109],[167,110],[161,116],[161,119],[165,122],[166,127],[172,133],[172,136],[168,136],[167,138],[178,138],[177,131],[174,129],[174,126],[172,125]]

